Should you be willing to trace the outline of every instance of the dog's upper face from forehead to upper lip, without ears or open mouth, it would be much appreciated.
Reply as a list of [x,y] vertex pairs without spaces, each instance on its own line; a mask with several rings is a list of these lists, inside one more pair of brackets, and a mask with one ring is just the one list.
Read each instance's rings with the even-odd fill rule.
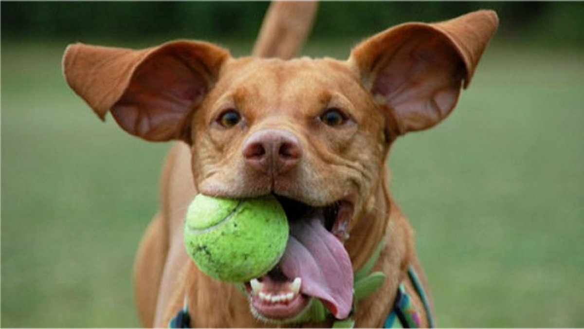
[[192,122],[197,188],[230,198],[360,209],[387,148],[384,116],[359,76],[329,59],[230,60]]

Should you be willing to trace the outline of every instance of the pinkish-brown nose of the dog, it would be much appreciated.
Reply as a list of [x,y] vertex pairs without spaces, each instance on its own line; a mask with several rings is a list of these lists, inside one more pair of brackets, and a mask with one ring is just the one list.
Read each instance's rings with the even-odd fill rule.
[[296,167],[302,157],[302,148],[293,133],[264,129],[248,137],[242,153],[250,167],[273,176]]

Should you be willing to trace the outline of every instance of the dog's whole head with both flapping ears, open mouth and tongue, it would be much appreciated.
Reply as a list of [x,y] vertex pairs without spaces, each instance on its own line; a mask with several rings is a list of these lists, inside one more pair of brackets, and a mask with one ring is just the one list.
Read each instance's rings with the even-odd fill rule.
[[110,111],[135,136],[190,144],[200,193],[279,198],[291,238],[280,264],[246,283],[259,317],[294,318],[317,297],[344,318],[364,261],[357,255],[384,234],[390,144],[449,115],[496,25],[489,11],[400,25],[346,61],[235,59],[192,41],[74,44],[64,68],[102,119]]

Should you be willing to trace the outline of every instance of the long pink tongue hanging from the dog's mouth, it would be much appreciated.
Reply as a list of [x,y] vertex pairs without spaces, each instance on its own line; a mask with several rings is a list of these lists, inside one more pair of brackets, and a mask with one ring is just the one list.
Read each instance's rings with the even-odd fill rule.
[[322,226],[318,216],[290,223],[290,238],[280,268],[288,278],[300,277],[301,292],[321,299],[333,316],[349,316],[353,304],[349,254],[338,238]]

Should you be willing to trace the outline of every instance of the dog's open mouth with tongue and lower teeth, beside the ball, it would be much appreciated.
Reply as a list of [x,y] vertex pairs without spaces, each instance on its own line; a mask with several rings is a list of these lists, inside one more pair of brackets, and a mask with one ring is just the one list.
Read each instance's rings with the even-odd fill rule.
[[290,321],[317,298],[336,318],[347,317],[353,303],[353,269],[343,241],[353,203],[342,199],[312,207],[277,198],[286,211],[290,236],[280,262],[245,283],[252,312],[263,320]]

